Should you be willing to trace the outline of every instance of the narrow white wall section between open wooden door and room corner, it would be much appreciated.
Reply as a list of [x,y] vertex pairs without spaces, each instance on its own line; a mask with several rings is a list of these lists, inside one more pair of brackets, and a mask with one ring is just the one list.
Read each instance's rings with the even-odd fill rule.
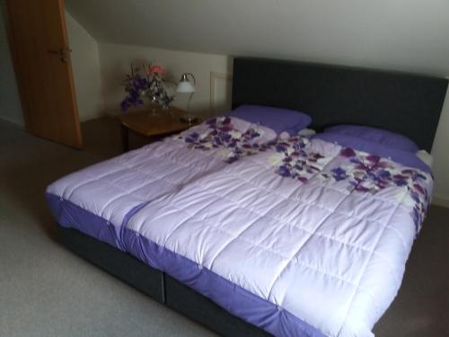
[[72,49],[76,102],[81,121],[100,117],[104,112],[101,92],[98,43],[66,12],[69,46]]

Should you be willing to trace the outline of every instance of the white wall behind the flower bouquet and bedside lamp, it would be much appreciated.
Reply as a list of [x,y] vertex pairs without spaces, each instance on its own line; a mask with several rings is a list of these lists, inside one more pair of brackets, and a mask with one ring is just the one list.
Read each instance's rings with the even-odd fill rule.
[[[107,111],[119,111],[119,103],[125,96],[121,85],[125,75],[130,72],[130,64],[140,66],[157,63],[168,72],[173,82],[178,82],[180,75],[189,72],[195,75],[196,93],[190,103],[191,111],[203,117],[212,114],[210,109],[210,77],[211,72],[218,74],[232,74],[232,58],[224,55],[200,54],[167,49],[155,49],[110,43],[100,43],[101,80],[103,97]],[[225,85],[216,85],[216,89],[223,93],[216,93],[222,103],[221,109],[229,107],[230,94]],[[227,94],[225,107],[221,98]],[[176,97],[175,106],[186,109],[187,97],[180,94]],[[227,106],[226,106],[227,104]]]

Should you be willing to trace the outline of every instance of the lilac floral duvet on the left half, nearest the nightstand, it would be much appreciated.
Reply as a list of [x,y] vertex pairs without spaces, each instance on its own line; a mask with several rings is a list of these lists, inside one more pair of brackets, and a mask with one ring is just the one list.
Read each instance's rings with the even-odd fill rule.
[[48,186],[48,204],[59,225],[126,251],[123,226],[136,211],[259,151],[276,136],[264,126],[217,117],[59,179]]

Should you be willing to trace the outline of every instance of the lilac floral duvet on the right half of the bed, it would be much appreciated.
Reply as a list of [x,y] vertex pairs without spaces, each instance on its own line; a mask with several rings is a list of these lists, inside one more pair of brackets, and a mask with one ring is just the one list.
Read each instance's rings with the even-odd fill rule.
[[293,137],[153,200],[123,239],[274,335],[373,336],[432,185],[416,167]]

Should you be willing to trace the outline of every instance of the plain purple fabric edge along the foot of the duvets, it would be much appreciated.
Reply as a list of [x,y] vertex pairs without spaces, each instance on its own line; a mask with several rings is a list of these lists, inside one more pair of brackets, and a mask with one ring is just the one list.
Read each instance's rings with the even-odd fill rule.
[[[248,290],[233,284],[196,262],[155,244],[144,236],[126,228],[128,219],[142,205],[124,217],[119,228],[106,219],[92,214],[69,200],[46,192],[46,199],[53,217],[59,226],[75,228],[95,239],[111,244],[121,251],[131,253],[149,266],[166,272],[174,279],[212,299],[229,313],[242,318],[276,336],[323,337],[323,333],[310,324],[289,313],[282,307],[258,297]],[[132,247],[125,247],[119,238],[127,236]],[[131,249],[130,249],[131,248]]]

